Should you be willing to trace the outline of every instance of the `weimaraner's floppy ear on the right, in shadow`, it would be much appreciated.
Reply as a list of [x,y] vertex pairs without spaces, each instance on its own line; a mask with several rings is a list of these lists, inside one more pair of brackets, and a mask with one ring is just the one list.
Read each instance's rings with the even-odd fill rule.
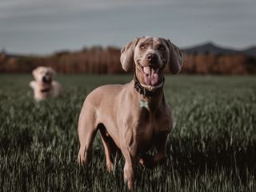
[[171,43],[169,39],[167,40],[167,44],[169,46],[169,53],[170,53],[170,58],[168,63],[170,72],[172,74],[178,74],[182,69],[183,60],[184,60],[182,51],[179,50],[178,47],[175,46],[173,43]]

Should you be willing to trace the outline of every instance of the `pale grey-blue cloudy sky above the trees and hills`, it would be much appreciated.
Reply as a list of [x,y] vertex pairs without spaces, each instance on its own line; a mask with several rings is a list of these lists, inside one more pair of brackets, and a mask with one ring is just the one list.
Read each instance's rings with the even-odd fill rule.
[[0,49],[51,54],[125,46],[141,36],[181,48],[256,45],[255,0],[0,0]]

